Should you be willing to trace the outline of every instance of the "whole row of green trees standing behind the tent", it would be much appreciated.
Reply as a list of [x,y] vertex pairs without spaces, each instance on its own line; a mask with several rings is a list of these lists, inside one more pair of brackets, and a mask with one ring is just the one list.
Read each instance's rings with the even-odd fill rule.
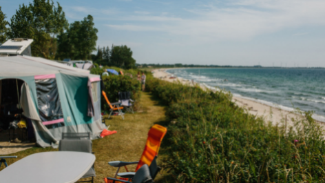
[[[90,60],[107,66],[134,68],[136,60],[127,46],[96,49],[97,28],[88,15],[81,21],[68,23],[59,2],[33,0],[19,5],[10,21],[0,6],[0,45],[12,38],[34,39],[32,55],[45,59]],[[97,50],[97,54],[92,54]],[[107,52],[107,54],[106,54]],[[105,55],[106,54],[106,55]],[[105,57],[104,57],[105,56]]]

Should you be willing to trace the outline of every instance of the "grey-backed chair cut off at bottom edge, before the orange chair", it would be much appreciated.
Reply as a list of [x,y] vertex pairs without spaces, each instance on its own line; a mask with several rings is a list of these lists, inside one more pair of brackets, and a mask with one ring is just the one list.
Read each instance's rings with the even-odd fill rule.
[[132,179],[132,182],[128,182],[125,180],[120,180],[116,178],[106,177],[105,183],[116,183],[116,182],[126,182],[126,183],[152,183],[154,182],[154,179],[150,175],[150,170],[147,164],[144,164],[141,166],[141,168],[138,169],[138,171],[135,173],[134,178]]

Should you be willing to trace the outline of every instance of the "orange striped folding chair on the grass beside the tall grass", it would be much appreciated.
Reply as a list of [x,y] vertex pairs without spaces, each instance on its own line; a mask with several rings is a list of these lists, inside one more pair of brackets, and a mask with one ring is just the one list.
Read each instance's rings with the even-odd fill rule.
[[114,166],[117,169],[115,177],[127,177],[132,178],[135,173],[134,172],[125,172],[125,173],[118,173],[120,170],[120,167],[125,166],[125,169],[127,165],[129,164],[138,164],[136,166],[136,171],[143,166],[144,164],[147,164],[149,167],[152,165],[152,174],[151,177],[155,177],[156,173],[160,170],[158,166],[156,166],[156,157],[158,155],[158,151],[160,148],[160,144],[162,142],[162,139],[164,138],[165,134],[167,133],[167,128],[160,126],[158,124],[155,124],[151,127],[148,133],[147,142],[145,144],[145,149],[143,150],[143,154],[140,157],[140,161],[138,162],[120,162],[120,161],[114,161],[114,162],[108,162],[110,166]]

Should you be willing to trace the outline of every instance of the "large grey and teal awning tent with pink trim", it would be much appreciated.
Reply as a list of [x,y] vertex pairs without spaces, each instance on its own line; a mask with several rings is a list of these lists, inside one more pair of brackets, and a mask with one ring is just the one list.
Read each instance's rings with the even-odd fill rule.
[[39,146],[54,146],[63,132],[90,132],[94,139],[105,129],[98,75],[39,57],[0,57],[0,64],[0,82],[25,81],[21,107]]

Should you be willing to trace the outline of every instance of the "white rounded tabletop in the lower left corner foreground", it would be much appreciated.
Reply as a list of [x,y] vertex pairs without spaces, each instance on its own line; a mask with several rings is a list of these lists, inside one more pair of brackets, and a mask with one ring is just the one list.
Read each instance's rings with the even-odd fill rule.
[[0,171],[0,182],[70,183],[76,182],[92,167],[92,153],[56,151],[35,153]]

